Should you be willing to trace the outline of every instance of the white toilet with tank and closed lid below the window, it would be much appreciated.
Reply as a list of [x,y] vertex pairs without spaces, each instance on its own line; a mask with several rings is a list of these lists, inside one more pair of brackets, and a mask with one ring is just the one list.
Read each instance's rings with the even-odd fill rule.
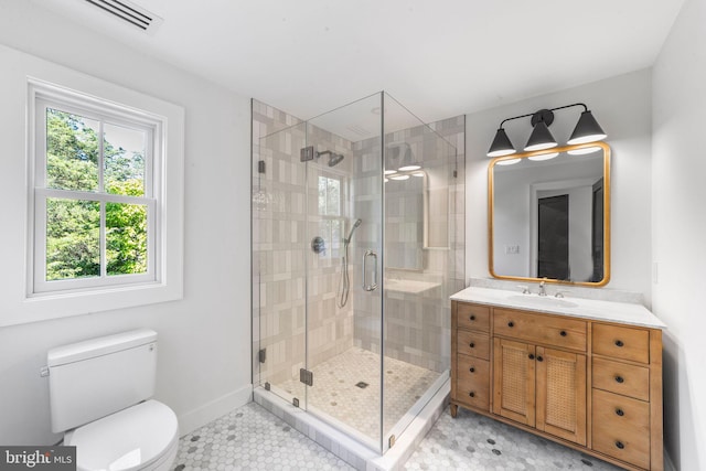
[[78,470],[168,470],[176,415],[154,393],[157,332],[139,329],[47,353],[52,431],[76,447]]

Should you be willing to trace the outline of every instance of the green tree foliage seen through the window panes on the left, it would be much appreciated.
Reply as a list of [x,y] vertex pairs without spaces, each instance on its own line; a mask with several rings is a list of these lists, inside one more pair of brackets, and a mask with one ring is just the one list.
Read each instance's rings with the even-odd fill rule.
[[[46,199],[46,280],[100,276],[101,250],[107,275],[147,271],[148,206],[105,202],[101,208],[92,199],[96,192],[145,195],[143,135],[47,108],[46,186],[85,195]],[[141,138],[142,144],[126,149],[108,140],[114,136],[119,142]]]

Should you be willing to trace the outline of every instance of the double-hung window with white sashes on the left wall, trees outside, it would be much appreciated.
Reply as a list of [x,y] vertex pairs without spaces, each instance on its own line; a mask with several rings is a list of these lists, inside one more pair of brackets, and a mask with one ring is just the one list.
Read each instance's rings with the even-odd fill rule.
[[163,286],[165,213],[181,212],[163,192],[167,118],[44,83],[31,82],[30,101],[28,296]]

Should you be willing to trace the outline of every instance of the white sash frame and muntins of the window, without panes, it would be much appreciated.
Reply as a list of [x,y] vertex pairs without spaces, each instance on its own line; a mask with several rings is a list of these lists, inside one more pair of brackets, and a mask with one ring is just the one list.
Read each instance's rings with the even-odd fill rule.
[[[156,257],[159,257],[162,250],[161,238],[156,232],[154,224],[148,224],[149,221],[159,221],[163,215],[161,214],[161,203],[156,201],[153,188],[159,185],[160,182],[154,182],[154,173],[150,171],[153,167],[153,158],[162,158],[162,153],[158,152],[160,149],[150,148],[160,140],[153,138],[153,133],[157,129],[161,128],[165,117],[150,116],[142,110],[133,110],[131,108],[120,106],[116,103],[104,101],[99,98],[83,95],[74,90],[63,89],[53,84],[38,83],[36,81],[29,79],[29,108],[34,110],[33,128],[30,129],[30,136],[34,138],[34,156],[30,154],[29,159],[34,163],[34,179],[30,179],[29,191],[34,191],[34,207],[30,210],[33,212],[33,217],[29,218],[29,235],[32,237],[29,240],[29,245],[33,246],[33,264],[30,265],[32,274],[28,276],[28,297],[43,296],[45,293],[54,293],[57,291],[66,292],[81,292],[85,288],[104,288],[111,286],[127,286],[135,283],[151,283],[159,282],[161,279],[160,266],[154,263]],[[46,116],[50,109],[67,113],[81,118],[85,118],[92,121],[96,121],[98,125],[98,161],[96,162],[96,172],[98,176],[98,188],[88,189],[84,191],[73,191],[54,189],[47,186],[46,156],[49,149],[46,149],[47,129],[46,129]],[[145,136],[143,152],[145,152],[145,173],[142,174],[142,196],[125,196],[108,193],[105,182],[105,161],[104,161],[104,131],[105,126],[110,125],[115,127],[122,127],[125,129],[131,129],[141,132]],[[159,163],[158,163],[159,165]],[[31,176],[32,174],[30,174]],[[159,175],[159,174],[158,174]],[[159,179],[158,179],[159,180]],[[46,201],[49,199],[65,199],[75,201],[96,202],[99,205],[99,247],[100,247],[100,272],[95,277],[86,277],[78,279],[61,279],[61,280],[47,280],[46,279]],[[107,203],[127,203],[142,205],[147,208],[146,215],[148,221],[147,225],[147,269],[142,274],[110,276],[107,274],[107,239],[106,239],[106,206]],[[159,238],[157,242],[156,238]],[[152,250],[150,250],[152,248]]]

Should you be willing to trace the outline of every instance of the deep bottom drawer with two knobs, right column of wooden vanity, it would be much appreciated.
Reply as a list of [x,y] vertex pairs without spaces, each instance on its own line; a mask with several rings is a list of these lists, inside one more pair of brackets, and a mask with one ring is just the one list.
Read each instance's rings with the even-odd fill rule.
[[593,389],[592,448],[640,468],[650,468],[650,404]]

